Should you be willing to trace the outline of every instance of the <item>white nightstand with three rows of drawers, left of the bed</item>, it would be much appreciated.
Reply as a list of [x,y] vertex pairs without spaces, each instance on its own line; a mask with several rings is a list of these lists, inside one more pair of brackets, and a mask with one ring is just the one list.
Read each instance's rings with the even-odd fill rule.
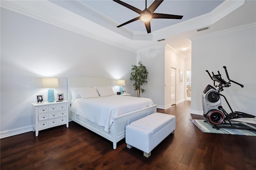
[[39,130],[65,124],[68,128],[68,103],[69,101],[31,103],[34,106],[33,131],[36,131],[36,136]]

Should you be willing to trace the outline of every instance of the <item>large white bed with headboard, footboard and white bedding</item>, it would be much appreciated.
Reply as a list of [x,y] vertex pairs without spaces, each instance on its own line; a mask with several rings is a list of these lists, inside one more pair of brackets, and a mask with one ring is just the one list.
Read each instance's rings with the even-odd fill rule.
[[[100,87],[110,87],[111,85],[115,85],[115,80],[109,78],[102,77],[67,77],[68,79],[68,101],[70,101],[69,108],[69,119],[70,121],[74,121],[79,125],[99,134],[100,136],[106,138],[113,142],[113,148],[116,149],[117,142],[122,140],[125,137],[125,127],[129,125],[131,122],[141,119],[142,117],[146,117],[152,113],[156,113],[156,106],[153,102],[151,104],[142,103],[142,106],[136,105],[128,102],[129,99],[135,101],[135,99],[140,99],[137,97],[128,97],[128,96],[119,96],[119,95],[111,95],[104,97],[92,97],[88,99],[72,99],[72,95],[74,97],[74,89],[79,88],[99,88]],[[74,97],[76,98],[76,97]],[[116,99],[117,98],[117,99]],[[98,104],[95,107],[96,103],[99,102],[99,99],[102,100],[102,104]],[[145,98],[146,99],[146,98]],[[94,101],[95,100],[95,101]],[[114,102],[114,107],[110,107]],[[150,100],[150,99],[149,99]],[[93,105],[89,105],[88,103],[94,103]],[[149,102],[147,99],[145,102]],[[82,104],[84,103],[84,104]],[[129,103],[129,105],[119,107],[118,103]],[[149,102],[150,103],[150,102]],[[85,104],[88,104],[84,106]],[[118,106],[116,106],[118,105]],[[104,108],[105,107],[105,108]],[[125,109],[123,109],[125,107]],[[87,117],[84,114],[84,108],[86,111],[91,111],[91,115],[94,115],[92,110],[96,112],[101,112],[102,110],[107,110],[108,115],[104,115],[102,117],[106,117],[106,121],[96,121],[94,119],[90,119],[90,115]]]

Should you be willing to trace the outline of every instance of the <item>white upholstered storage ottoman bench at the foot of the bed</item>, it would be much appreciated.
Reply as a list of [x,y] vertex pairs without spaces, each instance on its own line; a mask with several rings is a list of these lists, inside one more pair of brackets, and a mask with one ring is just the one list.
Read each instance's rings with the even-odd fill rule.
[[128,148],[138,148],[147,158],[164,138],[174,133],[176,119],[173,115],[153,113],[126,126],[125,141]]

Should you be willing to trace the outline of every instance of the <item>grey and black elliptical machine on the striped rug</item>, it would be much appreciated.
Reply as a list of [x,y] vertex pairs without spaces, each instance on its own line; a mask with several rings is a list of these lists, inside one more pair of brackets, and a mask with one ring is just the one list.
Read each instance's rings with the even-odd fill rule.
[[[241,87],[244,87],[244,85],[237,83],[236,81],[230,80],[228,76],[228,71],[226,69],[226,66],[223,66],[226,72],[226,76],[228,78],[228,82],[226,82],[224,79],[222,79],[220,71],[218,71],[218,74],[214,75],[212,72],[212,76],[210,75],[209,71],[206,70],[210,78],[214,81],[214,86],[218,87],[218,89],[215,89],[211,85],[207,85],[203,91],[202,94],[202,105],[204,110],[204,118],[205,122],[208,122],[212,125],[212,128],[238,128],[238,129],[248,129],[248,130],[255,130],[252,127],[249,127],[243,123],[235,123],[230,121],[231,119],[237,119],[237,118],[254,118],[255,116],[249,115],[247,113],[239,112],[239,111],[233,111],[230,107],[230,104],[228,103],[226,97],[222,94],[220,94],[221,91],[223,91],[224,87],[230,87],[231,82],[235,83],[237,85],[240,85]],[[220,83],[219,85],[215,85],[215,82]],[[227,113],[220,101],[220,96],[222,96],[226,103],[228,104],[228,107],[231,111],[231,113]],[[256,131],[256,130],[255,130]]]

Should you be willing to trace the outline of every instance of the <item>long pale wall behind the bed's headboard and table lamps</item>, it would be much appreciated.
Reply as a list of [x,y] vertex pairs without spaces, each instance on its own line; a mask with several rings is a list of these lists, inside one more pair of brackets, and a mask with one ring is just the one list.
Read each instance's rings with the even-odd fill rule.
[[42,77],[58,77],[56,93],[67,99],[66,76],[125,79],[136,53],[1,8],[1,137],[32,130],[36,95],[44,95]]

